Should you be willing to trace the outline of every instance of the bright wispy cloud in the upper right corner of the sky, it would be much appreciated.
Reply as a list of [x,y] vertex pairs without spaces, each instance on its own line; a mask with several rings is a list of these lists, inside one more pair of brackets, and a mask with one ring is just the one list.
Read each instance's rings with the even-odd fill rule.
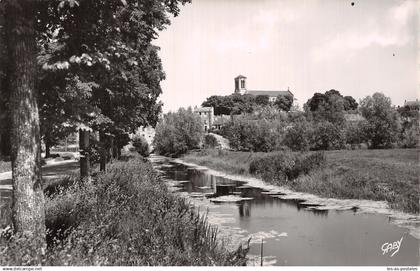
[[416,30],[410,29],[408,22],[416,15],[416,11],[417,1],[404,1],[391,7],[382,17],[361,21],[359,27],[326,39],[312,50],[312,57],[317,61],[337,55],[351,58],[357,50],[370,46],[404,46],[414,38]]

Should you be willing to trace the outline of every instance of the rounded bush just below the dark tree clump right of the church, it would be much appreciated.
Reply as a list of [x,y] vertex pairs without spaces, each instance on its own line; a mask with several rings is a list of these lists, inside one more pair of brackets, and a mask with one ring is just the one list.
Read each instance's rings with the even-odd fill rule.
[[311,137],[312,150],[338,150],[344,148],[345,134],[340,127],[331,122],[318,122],[314,125]]

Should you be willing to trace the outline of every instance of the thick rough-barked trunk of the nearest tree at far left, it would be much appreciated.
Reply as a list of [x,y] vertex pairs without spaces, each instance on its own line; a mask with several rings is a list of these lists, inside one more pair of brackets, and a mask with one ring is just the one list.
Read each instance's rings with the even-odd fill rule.
[[[12,1],[13,2],[13,1]],[[34,1],[6,6],[10,56],[11,155],[13,225],[15,232],[29,233],[45,245],[44,194],[36,80]]]

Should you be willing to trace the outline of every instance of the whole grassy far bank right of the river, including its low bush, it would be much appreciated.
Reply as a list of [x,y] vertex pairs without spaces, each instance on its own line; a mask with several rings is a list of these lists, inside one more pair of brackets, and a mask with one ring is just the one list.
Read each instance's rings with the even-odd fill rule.
[[419,213],[418,149],[325,152],[191,151],[182,159],[231,174],[253,175],[300,192],[341,199],[385,200]]

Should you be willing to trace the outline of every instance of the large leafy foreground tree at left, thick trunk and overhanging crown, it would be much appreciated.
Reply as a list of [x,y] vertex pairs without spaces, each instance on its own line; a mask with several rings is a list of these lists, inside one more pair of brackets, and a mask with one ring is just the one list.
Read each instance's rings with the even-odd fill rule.
[[[37,64],[44,70],[64,71],[59,82],[66,82],[63,89],[81,101],[81,104],[74,103],[75,100],[65,103],[77,109],[69,114],[77,122],[75,127],[106,131],[114,123],[130,122],[127,129],[131,129],[139,121],[156,122],[160,110],[156,99],[163,72],[157,61],[157,48],[151,41],[158,30],[169,24],[170,14],[179,13],[178,4],[186,2],[0,1],[0,26],[6,32],[9,57],[7,103],[11,116],[16,232],[29,232],[41,239],[40,246],[45,244]],[[126,83],[121,84],[123,81]],[[3,94],[4,87],[0,87]],[[126,103],[122,105],[123,102]],[[126,111],[122,112],[122,108]],[[50,109],[55,111],[59,107]],[[125,119],[119,119],[121,116]]]

